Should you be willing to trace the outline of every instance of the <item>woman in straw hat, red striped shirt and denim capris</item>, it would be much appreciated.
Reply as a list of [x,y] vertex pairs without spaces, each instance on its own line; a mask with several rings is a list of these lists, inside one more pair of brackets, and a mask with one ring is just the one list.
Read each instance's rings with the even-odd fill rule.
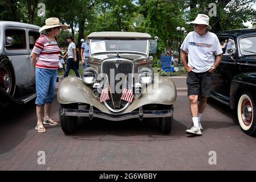
[[[51,103],[55,96],[55,82],[59,65],[59,46],[55,36],[59,35],[60,28],[66,30],[67,26],[60,24],[58,18],[46,19],[46,25],[39,32],[44,34],[36,40],[31,52],[31,63],[35,66],[36,85],[36,115],[37,124],[35,129],[39,133],[46,132],[43,124],[58,125],[50,118]],[[44,109],[44,118],[43,118]],[[43,119],[42,119],[43,118]]]

